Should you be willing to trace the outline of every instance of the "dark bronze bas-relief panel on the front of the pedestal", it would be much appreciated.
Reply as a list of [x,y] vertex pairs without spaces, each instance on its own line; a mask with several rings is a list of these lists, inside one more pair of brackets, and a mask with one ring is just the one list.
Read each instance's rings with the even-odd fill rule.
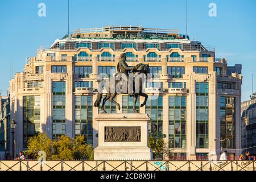
[[141,142],[141,127],[105,127],[105,142]]

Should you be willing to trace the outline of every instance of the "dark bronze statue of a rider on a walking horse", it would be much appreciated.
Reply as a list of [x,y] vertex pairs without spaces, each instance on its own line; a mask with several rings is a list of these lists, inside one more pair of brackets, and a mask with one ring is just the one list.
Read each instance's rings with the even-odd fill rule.
[[[122,93],[122,94],[128,94],[130,97],[133,97],[133,110],[134,110],[134,113],[138,113],[138,111],[135,108],[138,96],[144,97],[144,102],[141,104],[141,107],[146,105],[146,102],[147,102],[148,96],[146,93],[143,92],[143,85],[144,85],[144,78],[146,77],[147,79],[149,74],[150,74],[150,69],[148,64],[139,63],[135,65],[135,67],[130,68],[126,63],[126,53],[122,53],[121,60],[117,64],[117,73],[115,74],[114,78],[110,77],[110,78],[101,80],[99,82],[99,85],[105,84],[105,88],[108,88],[108,92],[104,96],[103,100],[102,100],[103,93],[98,92],[97,100],[94,102],[94,107],[100,107],[101,100],[102,100],[101,110],[102,110],[102,113],[106,113],[104,106],[106,101],[109,100],[110,102],[113,102],[117,106],[118,110],[120,110],[120,105],[118,104],[118,102],[114,101],[114,98],[115,96],[117,96],[117,93]],[[130,85],[130,87],[127,85]],[[138,86],[135,86],[135,85],[138,85]],[[117,89],[117,88],[121,88],[121,89]]]

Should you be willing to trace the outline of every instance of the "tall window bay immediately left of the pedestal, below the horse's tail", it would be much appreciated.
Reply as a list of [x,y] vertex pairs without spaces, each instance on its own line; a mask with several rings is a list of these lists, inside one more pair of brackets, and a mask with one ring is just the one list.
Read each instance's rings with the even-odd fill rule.
[[86,143],[93,143],[92,96],[75,96],[75,135],[84,135]]

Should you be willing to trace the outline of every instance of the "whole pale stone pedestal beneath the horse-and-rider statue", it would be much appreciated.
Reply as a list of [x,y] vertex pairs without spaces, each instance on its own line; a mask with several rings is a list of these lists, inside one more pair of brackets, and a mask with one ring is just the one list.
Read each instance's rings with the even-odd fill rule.
[[99,114],[94,160],[151,160],[147,114]]

